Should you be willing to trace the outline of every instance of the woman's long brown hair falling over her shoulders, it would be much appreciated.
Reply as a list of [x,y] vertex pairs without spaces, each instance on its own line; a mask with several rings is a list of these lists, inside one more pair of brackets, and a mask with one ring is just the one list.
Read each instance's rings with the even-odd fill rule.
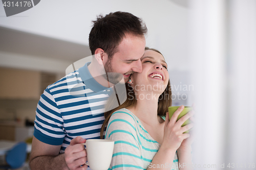
[[[152,50],[152,51],[155,51],[157,53],[160,53],[158,50],[155,50],[154,48],[145,47],[145,50]],[[135,106],[135,104],[137,102],[135,93],[133,91],[133,87],[130,84],[127,84],[127,83],[125,84],[125,87],[126,87],[126,91],[123,91],[123,92],[126,92],[126,95],[127,95],[126,101],[123,104],[121,104],[120,106],[118,106],[117,108],[112,109],[112,110],[107,111],[107,112],[104,112],[105,120],[104,120],[103,125],[100,129],[100,138],[101,139],[103,139],[104,130],[105,130],[106,126],[109,123],[111,115],[119,109],[131,108],[131,107]],[[123,95],[125,95],[125,94],[123,94]],[[108,108],[111,108],[113,106],[114,101],[116,101],[116,95],[111,95],[109,100],[108,100],[108,103],[105,106],[105,110],[109,110]],[[120,103],[122,103],[122,101],[120,101]],[[162,94],[158,98],[157,114],[160,115],[160,116],[165,115],[166,112],[168,112],[168,107],[169,106],[172,106],[172,89],[170,88],[170,80],[168,81],[168,84],[167,84],[165,90],[162,92]]]

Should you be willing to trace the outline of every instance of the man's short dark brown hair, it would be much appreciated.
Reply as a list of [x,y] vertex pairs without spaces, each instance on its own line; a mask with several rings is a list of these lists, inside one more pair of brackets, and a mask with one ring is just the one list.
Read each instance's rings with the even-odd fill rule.
[[99,15],[93,22],[89,34],[89,47],[92,55],[97,48],[102,48],[109,59],[117,52],[126,33],[144,37],[147,28],[141,18],[128,12],[114,12],[105,16]]

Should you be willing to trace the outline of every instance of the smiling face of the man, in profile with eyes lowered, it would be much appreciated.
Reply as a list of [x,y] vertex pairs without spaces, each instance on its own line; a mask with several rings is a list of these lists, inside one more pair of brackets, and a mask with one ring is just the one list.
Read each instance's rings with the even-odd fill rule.
[[[124,82],[129,80],[133,72],[141,72],[142,64],[140,58],[144,54],[145,43],[144,37],[125,34],[125,37],[123,37],[123,40],[117,47],[117,53],[112,56],[111,60],[108,59],[103,63],[105,72],[117,72],[122,74]],[[115,80],[118,79],[118,75],[112,74],[108,75],[108,77],[110,78],[112,76],[110,79]],[[111,80],[109,81],[111,82]]]

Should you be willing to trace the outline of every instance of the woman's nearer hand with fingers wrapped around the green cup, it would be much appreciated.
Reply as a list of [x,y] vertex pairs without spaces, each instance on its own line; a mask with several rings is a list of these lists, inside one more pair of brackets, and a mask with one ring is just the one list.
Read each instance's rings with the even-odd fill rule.
[[[163,143],[161,147],[165,149],[169,149],[172,151],[178,150],[180,148],[181,143],[184,139],[187,139],[190,134],[183,133],[191,128],[193,128],[194,124],[188,124],[183,127],[181,125],[191,116],[194,115],[194,111],[190,111],[184,116],[182,116],[178,121],[178,115],[184,109],[184,106],[180,106],[177,111],[174,112],[173,116],[169,120],[169,114],[166,114],[165,125],[164,125],[164,135],[163,135]],[[177,121],[177,122],[176,122]],[[189,144],[188,140],[184,142],[183,147],[186,147]]]

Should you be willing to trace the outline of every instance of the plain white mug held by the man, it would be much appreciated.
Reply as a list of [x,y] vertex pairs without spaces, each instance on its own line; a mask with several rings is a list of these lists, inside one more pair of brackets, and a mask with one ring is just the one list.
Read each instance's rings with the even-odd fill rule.
[[92,170],[107,170],[112,160],[115,141],[106,139],[87,139],[87,165]]

